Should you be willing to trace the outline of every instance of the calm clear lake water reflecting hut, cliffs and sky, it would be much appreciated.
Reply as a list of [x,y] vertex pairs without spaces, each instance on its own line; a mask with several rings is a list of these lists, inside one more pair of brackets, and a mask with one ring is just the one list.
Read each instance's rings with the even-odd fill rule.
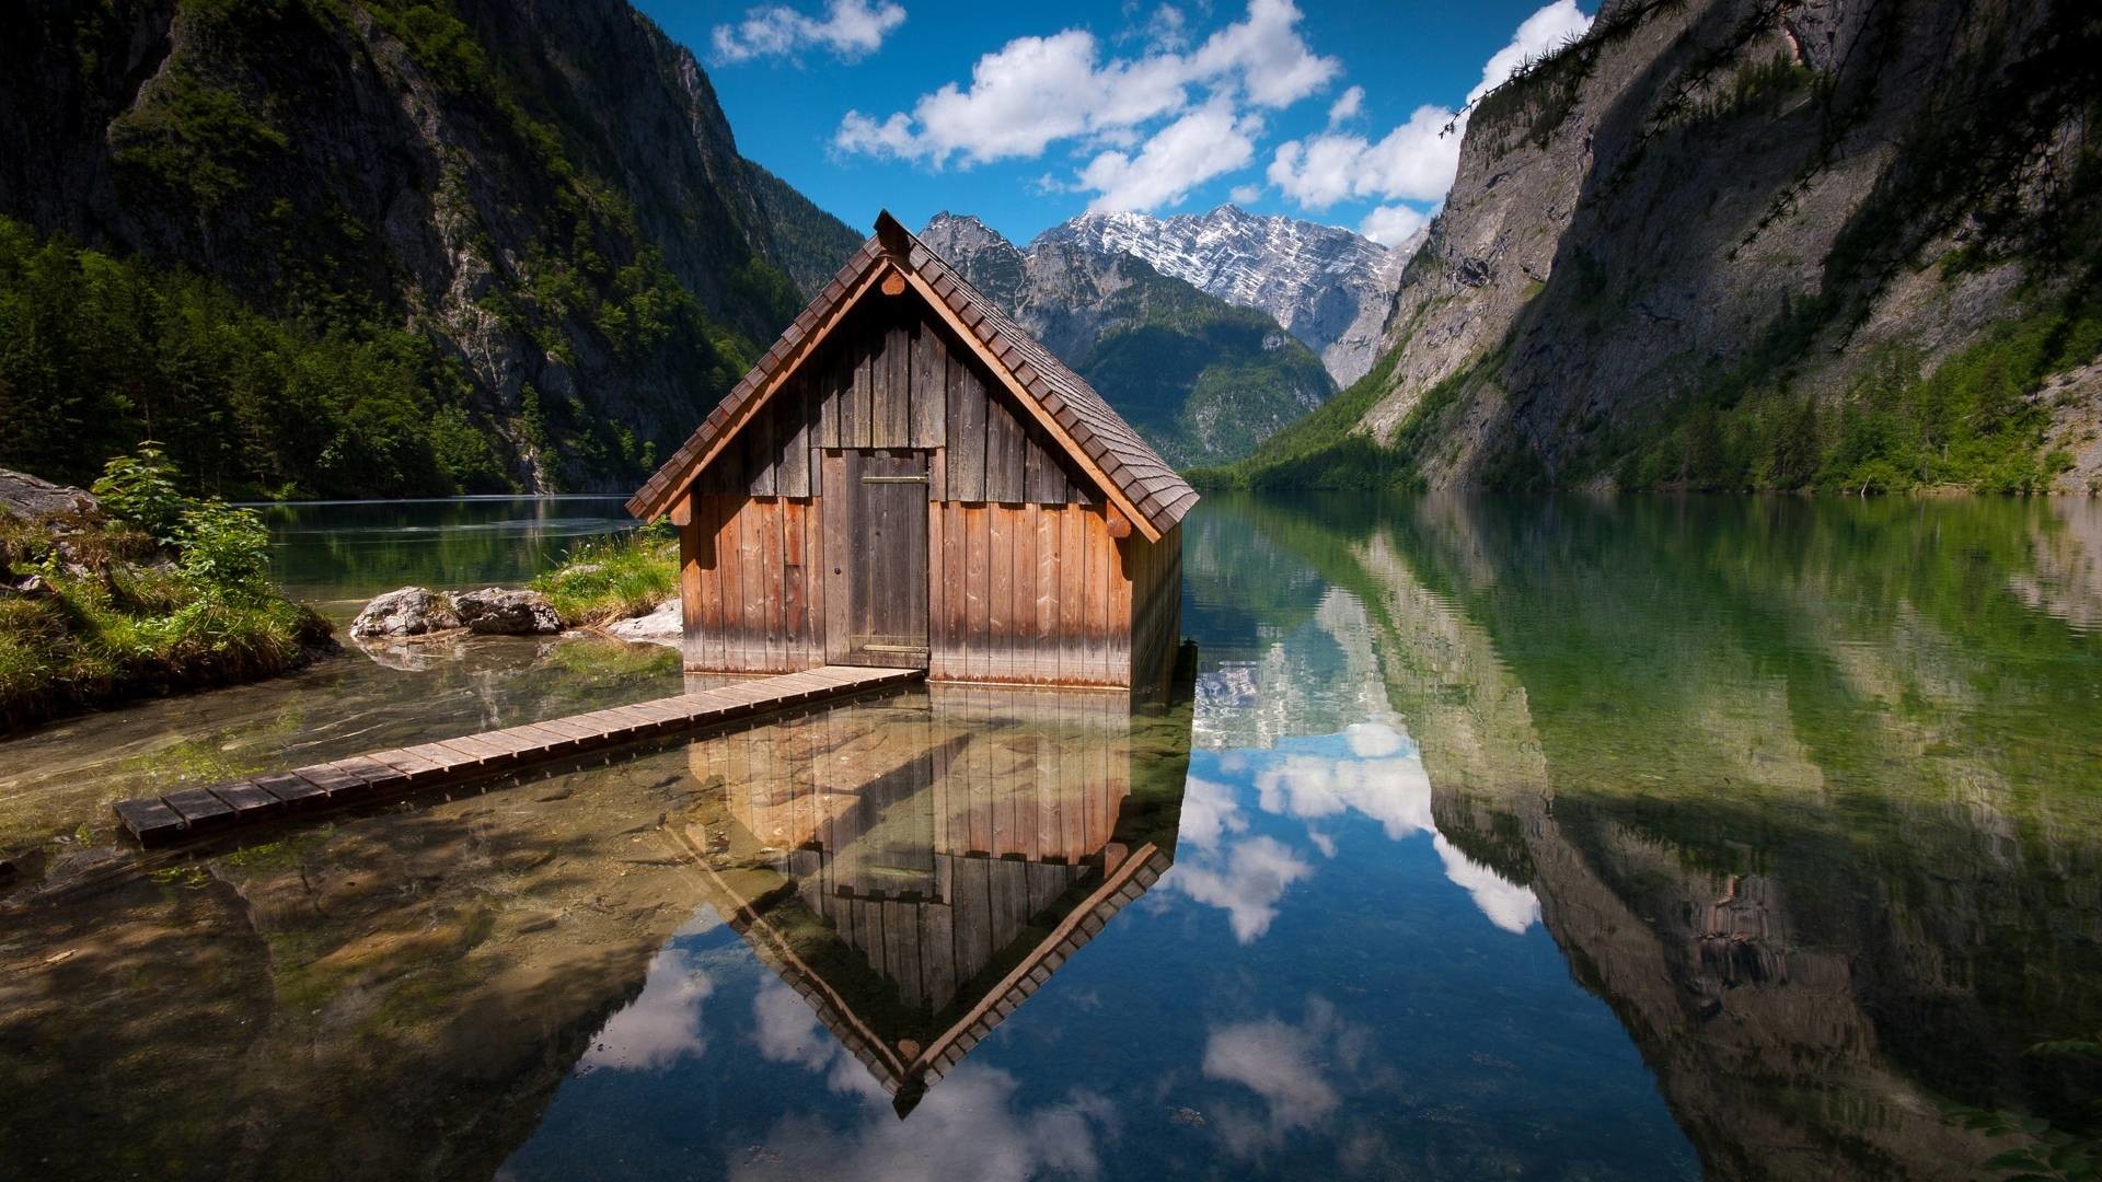
[[[280,572],[515,583],[620,526],[483,511],[301,507]],[[0,745],[0,1174],[2091,1176],[2094,503],[1186,534],[1192,681],[1139,709],[910,692],[153,856],[141,784],[677,660],[353,650]]]

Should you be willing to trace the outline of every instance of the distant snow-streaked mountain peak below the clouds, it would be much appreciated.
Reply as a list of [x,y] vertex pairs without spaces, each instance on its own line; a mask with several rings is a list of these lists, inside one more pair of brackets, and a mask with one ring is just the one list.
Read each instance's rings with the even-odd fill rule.
[[1379,358],[1402,267],[1423,238],[1389,250],[1333,225],[1219,206],[1175,217],[1089,212],[1043,231],[1036,244],[1045,242],[1133,254],[1162,276],[1268,311],[1320,353],[1337,385],[1349,385]]

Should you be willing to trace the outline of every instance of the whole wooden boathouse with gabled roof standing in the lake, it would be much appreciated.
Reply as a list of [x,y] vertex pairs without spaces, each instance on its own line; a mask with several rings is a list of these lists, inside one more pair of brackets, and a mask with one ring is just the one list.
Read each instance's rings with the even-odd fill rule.
[[679,528],[689,673],[1148,688],[1194,503],[885,212],[628,511]]

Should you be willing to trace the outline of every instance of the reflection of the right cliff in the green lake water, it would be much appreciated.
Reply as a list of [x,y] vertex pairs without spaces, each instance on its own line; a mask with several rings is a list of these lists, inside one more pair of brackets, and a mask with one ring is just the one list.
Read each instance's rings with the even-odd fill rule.
[[2094,503],[1207,524],[1316,570],[1335,652],[1253,646],[1200,742],[1358,679],[1326,709],[1406,728],[1438,839],[1537,896],[1709,1174],[1972,1178],[2018,1144],[1953,1106],[2102,1132],[2098,1060],[2039,1047],[2102,1031]]

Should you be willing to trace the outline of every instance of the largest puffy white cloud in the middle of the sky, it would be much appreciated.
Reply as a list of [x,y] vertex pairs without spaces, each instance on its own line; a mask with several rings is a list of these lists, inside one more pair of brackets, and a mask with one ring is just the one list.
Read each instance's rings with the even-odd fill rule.
[[[1137,57],[1104,59],[1087,29],[1015,38],[977,59],[969,86],[948,82],[921,95],[910,111],[883,118],[847,111],[832,145],[935,168],[1034,160],[1059,141],[1108,145],[1114,151],[1087,166],[1099,181],[1085,185],[1101,193],[1097,204],[1150,208],[1177,200],[1190,185],[1246,164],[1198,166],[1188,151],[1198,130],[1223,130],[1232,154],[1246,141],[1253,158],[1261,122],[1240,105],[1291,105],[1341,69],[1337,59],[1307,48],[1291,0],[1251,0],[1244,19],[1190,53],[1181,53],[1181,19],[1179,8],[1156,11],[1152,48]],[[1196,107],[1192,88],[1209,90]]]

